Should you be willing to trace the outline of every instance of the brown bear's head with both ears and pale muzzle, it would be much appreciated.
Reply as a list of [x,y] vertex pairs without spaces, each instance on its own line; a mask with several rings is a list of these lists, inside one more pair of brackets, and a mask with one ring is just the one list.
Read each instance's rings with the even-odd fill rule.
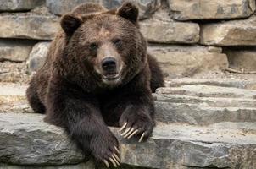
[[89,75],[97,85],[114,87],[128,83],[147,63],[147,42],[133,3],[110,11],[65,14],[61,26],[66,65],[80,79]]

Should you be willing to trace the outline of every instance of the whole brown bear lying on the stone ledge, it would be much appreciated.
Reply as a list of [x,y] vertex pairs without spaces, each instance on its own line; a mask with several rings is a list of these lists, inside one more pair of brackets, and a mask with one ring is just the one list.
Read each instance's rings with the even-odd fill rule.
[[27,99],[84,153],[118,166],[119,144],[108,126],[121,127],[124,138],[146,140],[154,127],[152,92],[164,86],[139,30],[138,8],[82,4],[64,14],[60,25]]

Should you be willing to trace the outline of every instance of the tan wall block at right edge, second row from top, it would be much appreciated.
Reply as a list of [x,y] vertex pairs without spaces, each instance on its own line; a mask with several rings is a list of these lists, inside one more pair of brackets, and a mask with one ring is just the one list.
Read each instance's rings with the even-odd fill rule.
[[200,42],[215,46],[255,46],[256,15],[249,19],[202,25]]

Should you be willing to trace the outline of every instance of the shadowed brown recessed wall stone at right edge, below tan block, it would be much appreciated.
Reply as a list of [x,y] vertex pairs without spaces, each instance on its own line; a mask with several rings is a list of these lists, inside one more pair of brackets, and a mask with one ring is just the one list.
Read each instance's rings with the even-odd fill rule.
[[256,71],[256,48],[252,49],[227,49],[225,53],[230,63],[230,68],[242,72]]

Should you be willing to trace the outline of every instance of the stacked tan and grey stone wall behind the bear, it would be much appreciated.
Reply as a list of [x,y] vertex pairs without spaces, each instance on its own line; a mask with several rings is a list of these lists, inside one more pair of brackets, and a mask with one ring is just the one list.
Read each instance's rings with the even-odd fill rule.
[[[26,63],[25,71],[36,71],[60,29],[61,14],[80,3],[117,8],[123,1],[1,1],[0,61]],[[192,76],[228,67],[255,72],[255,0],[133,1],[140,8],[148,51],[157,57],[166,74]]]

